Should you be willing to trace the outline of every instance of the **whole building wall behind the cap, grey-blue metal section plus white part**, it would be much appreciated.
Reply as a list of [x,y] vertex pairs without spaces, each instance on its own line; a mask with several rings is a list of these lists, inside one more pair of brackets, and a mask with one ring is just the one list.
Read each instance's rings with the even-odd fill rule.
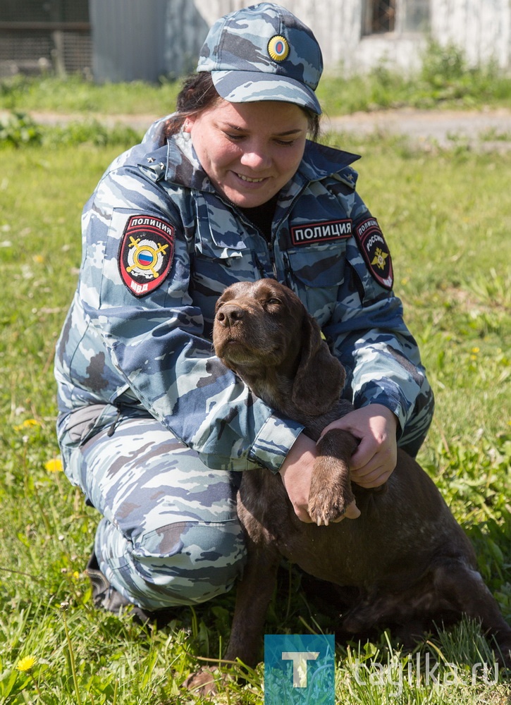
[[[420,65],[428,35],[402,30],[362,36],[369,0],[279,0],[316,35],[325,73],[363,73],[378,63],[403,72]],[[209,27],[228,12],[257,0],[90,0],[94,75],[99,80],[159,80],[195,70]],[[455,44],[469,63],[495,61],[511,71],[511,0],[429,0],[431,37]]]

